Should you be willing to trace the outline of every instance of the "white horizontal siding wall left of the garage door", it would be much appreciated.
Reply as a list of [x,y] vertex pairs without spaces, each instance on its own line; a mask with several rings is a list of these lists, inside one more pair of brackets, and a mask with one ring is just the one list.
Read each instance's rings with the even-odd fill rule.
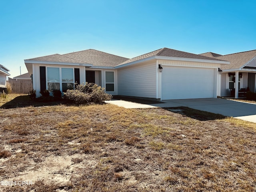
[[118,95],[156,98],[156,62],[118,69]]

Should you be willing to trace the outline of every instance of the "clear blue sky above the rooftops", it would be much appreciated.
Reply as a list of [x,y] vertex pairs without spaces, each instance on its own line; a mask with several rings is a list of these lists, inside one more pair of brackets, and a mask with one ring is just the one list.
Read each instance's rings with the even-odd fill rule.
[[96,49],[132,58],[163,47],[200,54],[256,49],[256,1],[8,0],[0,2],[0,64]]

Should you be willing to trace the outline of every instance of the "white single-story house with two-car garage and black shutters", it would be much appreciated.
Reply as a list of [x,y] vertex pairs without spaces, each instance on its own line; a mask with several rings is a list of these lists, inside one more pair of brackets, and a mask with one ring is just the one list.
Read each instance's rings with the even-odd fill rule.
[[93,82],[112,95],[157,100],[216,98],[220,95],[218,68],[230,64],[169,48],[132,59],[89,49],[24,62],[33,74],[37,96],[41,90],[65,92],[75,82]]

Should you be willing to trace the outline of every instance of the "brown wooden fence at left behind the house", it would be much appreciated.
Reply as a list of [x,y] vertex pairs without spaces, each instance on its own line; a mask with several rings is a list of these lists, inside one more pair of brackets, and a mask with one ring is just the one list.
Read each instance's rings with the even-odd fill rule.
[[33,84],[31,80],[8,80],[12,86],[12,93],[28,94],[33,90]]

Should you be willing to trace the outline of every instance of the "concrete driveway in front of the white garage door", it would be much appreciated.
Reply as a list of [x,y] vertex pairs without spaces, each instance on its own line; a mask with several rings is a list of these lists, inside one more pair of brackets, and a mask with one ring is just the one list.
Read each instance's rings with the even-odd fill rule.
[[256,123],[256,104],[221,98],[164,100],[163,102],[165,103],[151,105],[162,108],[186,106]]

